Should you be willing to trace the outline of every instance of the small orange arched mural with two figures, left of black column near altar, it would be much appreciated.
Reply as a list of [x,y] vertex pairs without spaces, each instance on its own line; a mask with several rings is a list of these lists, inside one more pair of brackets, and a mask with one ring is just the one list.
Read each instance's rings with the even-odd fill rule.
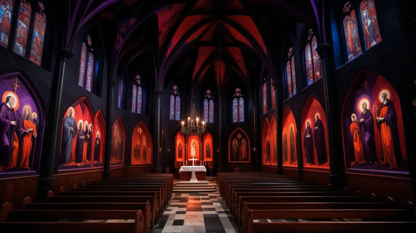
[[140,121],[131,136],[131,165],[152,164],[152,148],[149,130],[143,121]]

